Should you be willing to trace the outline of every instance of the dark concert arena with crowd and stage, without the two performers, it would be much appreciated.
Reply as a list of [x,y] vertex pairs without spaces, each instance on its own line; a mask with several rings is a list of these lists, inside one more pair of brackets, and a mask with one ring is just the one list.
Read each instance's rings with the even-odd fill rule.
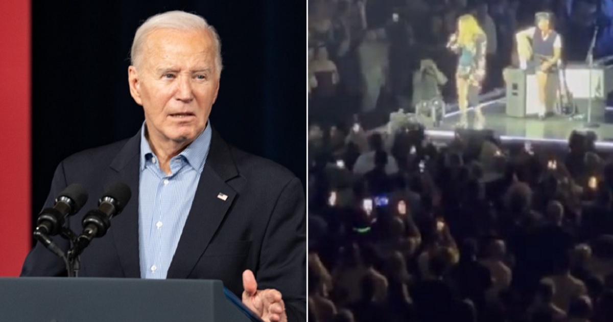
[[[539,12],[562,39],[546,113],[517,40]],[[465,15],[489,47],[462,113]],[[612,17],[613,1],[309,2],[310,320],[613,321]]]

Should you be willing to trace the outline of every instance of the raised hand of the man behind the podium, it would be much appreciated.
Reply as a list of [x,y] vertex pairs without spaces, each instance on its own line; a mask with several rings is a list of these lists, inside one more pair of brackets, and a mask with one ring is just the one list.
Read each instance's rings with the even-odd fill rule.
[[243,272],[243,304],[265,322],[287,322],[281,292],[276,289],[257,289],[256,277],[251,270]]

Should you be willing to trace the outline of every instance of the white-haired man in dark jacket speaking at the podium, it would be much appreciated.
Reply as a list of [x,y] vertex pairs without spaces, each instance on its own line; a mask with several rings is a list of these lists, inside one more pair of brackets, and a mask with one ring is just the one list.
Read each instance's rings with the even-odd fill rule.
[[[305,321],[302,185],[212,128],[222,69],[215,29],[191,13],[155,15],[136,31],[131,58],[130,93],[145,123],[131,139],[62,161],[46,203],[72,183],[96,197],[113,182],[132,190],[107,236],[81,256],[80,276],[219,279],[264,321]],[[94,199],[83,209],[94,209]],[[70,227],[82,218],[71,217]],[[37,244],[22,275],[66,269]]]

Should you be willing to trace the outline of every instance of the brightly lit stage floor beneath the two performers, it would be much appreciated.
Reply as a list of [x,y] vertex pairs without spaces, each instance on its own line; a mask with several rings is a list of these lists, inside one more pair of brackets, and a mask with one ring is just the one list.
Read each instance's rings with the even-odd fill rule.
[[[509,117],[505,113],[506,100],[504,91],[496,91],[482,96],[482,111],[485,116],[485,129],[494,131],[495,136],[501,140],[511,141],[531,141],[531,142],[552,142],[567,144],[568,137],[574,130],[593,131],[598,136],[596,145],[607,150],[613,149],[613,110],[607,109],[604,119],[592,120],[598,123],[598,128],[586,128],[585,120],[571,120],[568,117],[553,116],[545,120],[538,120],[536,117],[516,118]],[[435,138],[449,138],[454,136],[455,124],[459,121],[460,115],[455,104],[449,105],[447,110],[451,110],[443,118],[443,122],[438,127],[427,128],[427,134]],[[474,126],[474,113],[468,112],[469,126]]]

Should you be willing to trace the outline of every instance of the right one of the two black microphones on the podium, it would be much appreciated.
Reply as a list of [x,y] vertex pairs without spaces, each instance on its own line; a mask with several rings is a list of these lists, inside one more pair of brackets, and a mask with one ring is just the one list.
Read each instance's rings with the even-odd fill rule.
[[104,236],[111,226],[110,219],[121,213],[131,197],[132,191],[124,183],[107,186],[98,201],[98,209],[89,210],[83,218],[83,232],[77,237],[69,256],[75,258],[88,247],[91,240]]

